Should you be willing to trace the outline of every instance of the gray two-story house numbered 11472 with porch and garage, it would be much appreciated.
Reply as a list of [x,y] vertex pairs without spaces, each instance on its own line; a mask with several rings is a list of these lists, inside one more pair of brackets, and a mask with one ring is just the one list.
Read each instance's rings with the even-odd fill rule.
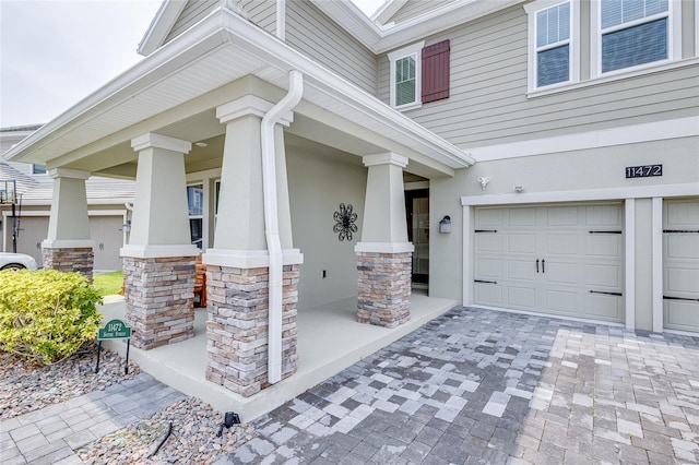
[[137,346],[191,336],[199,237],[208,379],[241,395],[294,373],[296,311],[357,296],[393,326],[411,273],[464,306],[699,332],[699,2],[165,1],[139,50],[10,152],[83,205],[49,254],[88,243],[82,179],[135,179]]

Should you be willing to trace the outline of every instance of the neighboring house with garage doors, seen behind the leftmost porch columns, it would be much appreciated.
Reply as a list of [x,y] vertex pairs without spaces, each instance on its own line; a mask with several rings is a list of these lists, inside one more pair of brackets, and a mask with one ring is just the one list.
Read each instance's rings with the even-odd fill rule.
[[[12,240],[12,205],[0,205],[0,251],[27,253],[42,265],[40,243],[48,237],[54,181],[43,164],[8,162],[4,153],[39,129],[40,124],[0,128],[0,181],[15,181],[15,243]],[[133,181],[92,177],[86,182],[90,231],[95,241],[94,269],[120,270],[119,249],[126,243],[126,202],[133,202]]]

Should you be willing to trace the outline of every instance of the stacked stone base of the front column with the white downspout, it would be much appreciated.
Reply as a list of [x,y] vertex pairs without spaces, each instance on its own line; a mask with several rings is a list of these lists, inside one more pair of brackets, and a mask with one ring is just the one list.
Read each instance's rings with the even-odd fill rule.
[[[285,265],[282,302],[282,379],[296,372],[298,265]],[[269,388],[269,269],[206,265],[206,379],[245,397]]]

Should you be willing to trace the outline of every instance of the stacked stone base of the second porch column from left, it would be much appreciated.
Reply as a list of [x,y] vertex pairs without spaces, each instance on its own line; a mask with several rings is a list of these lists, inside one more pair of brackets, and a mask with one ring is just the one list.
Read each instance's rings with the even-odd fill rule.
[[194,336],[194,257],[123,258],[131,343],[149,350]]

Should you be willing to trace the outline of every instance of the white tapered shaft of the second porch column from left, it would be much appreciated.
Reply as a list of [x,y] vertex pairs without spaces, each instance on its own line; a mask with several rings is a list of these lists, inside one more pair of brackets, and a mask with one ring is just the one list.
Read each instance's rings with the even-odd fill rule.
[[191,143],[155,133],[131,141],[139,152],[129,245],[122,257],[194,257],[191,245],[185,154]]

